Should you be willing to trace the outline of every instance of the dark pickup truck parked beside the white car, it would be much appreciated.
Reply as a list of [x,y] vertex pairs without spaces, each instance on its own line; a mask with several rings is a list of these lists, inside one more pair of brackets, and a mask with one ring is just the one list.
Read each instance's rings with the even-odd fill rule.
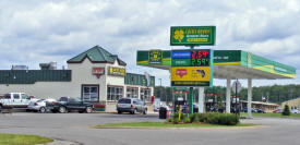
[[65,113],[69,111],[93,112],[93,105],[80,98],[61,97],[57,102],[47,102],[46,107],[52,112]]

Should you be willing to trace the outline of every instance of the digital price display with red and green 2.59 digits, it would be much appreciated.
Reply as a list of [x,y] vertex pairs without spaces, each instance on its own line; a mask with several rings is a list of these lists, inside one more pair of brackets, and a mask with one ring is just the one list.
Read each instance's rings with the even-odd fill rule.
[[209,67],[209,50],[192,50],[192,67]]

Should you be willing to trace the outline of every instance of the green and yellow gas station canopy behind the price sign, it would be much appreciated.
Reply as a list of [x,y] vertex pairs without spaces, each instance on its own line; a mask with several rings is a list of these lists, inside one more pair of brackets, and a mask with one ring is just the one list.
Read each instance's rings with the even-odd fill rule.
[[[170,70],[171,50],[158,50],[160,61],[151,51],[137,50],[136,64]],[[214,78],[296,78],[296,69],[242,50],[214,50]]]

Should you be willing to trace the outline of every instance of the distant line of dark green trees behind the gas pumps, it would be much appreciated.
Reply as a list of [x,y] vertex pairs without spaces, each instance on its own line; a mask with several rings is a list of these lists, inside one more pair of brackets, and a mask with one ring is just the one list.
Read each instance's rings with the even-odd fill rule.
[[[197,101],[197,89],[193,90],[195,101]],[[214,86],[212,88],[205,88],[204,93],[207,95],[205,99],[217,98],[218,101],[226,100],[226,87]],[[154,96],[160,98],[163,101],[172,101],[178,97],[183,97],[184,94],[179,92],[173,93],[171,87],[156,86],[154,89]],[[231,92],[231,96],[235,94]],[[241,100],[247,100],[248,88],[242,88],[238,94]],[[289,84],[289,85],[273,85],[273,86],[259,86],[252,87],[252,100],[262,101],[265,98],[267,102],[281,104],[283,101],[295,99],[300,97],[300,85]]]

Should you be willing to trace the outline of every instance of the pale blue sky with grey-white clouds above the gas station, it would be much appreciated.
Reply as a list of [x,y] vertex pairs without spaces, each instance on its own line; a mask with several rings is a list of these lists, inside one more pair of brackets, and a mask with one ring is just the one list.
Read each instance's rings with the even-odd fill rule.
[[[217,50],[243,50],[299,72],[298,0],[1,0],[0,70],[67,60],[98,45],[127,62],[127,72],[148,72],[169,86],[168,71],[137,67],[136,51],[169,46],[170,26],[216,26]],[[242,81],[243,85],[245,81]],[[224,80],[215,85],[225,86]],[[253,81],[254,86],[300,84]]]

